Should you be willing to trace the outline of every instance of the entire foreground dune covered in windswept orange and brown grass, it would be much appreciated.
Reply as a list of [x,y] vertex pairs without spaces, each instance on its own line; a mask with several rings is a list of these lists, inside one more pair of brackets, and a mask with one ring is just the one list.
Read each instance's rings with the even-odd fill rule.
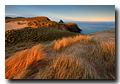
[[6,59],[5,78],[114,79],[115,42],[78,35],[39,44]]

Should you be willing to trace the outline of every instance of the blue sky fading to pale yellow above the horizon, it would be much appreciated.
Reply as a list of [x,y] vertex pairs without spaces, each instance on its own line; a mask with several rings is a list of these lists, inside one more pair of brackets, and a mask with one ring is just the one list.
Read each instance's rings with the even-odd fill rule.
[[5,5],[5,16],[46,16],[52,21],[115,21],[115,5]]

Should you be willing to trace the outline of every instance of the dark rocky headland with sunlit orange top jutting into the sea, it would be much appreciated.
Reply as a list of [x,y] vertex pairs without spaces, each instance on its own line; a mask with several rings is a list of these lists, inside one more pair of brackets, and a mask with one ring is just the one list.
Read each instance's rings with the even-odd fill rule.
[[80,32],[82,31],[76,23],[66,23],[65,26],[70,32]]

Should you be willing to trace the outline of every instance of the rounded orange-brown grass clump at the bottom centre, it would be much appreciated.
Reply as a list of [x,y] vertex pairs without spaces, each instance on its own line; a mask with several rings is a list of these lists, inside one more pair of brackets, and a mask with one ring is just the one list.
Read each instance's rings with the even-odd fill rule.
[[84,66],[78,59],[72,57],[59,57],[53,64],[55,79],[78,79],[83,76]]

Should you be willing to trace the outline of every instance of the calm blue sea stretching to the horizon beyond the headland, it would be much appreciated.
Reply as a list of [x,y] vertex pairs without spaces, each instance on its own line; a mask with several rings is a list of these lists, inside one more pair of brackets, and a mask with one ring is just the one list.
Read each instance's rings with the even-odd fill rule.
[[82,31],[81,34],[96,33],[107,29],[115,29],[115,22],[85,22],[85,21],[67,21],[64,23],[76,23]]

